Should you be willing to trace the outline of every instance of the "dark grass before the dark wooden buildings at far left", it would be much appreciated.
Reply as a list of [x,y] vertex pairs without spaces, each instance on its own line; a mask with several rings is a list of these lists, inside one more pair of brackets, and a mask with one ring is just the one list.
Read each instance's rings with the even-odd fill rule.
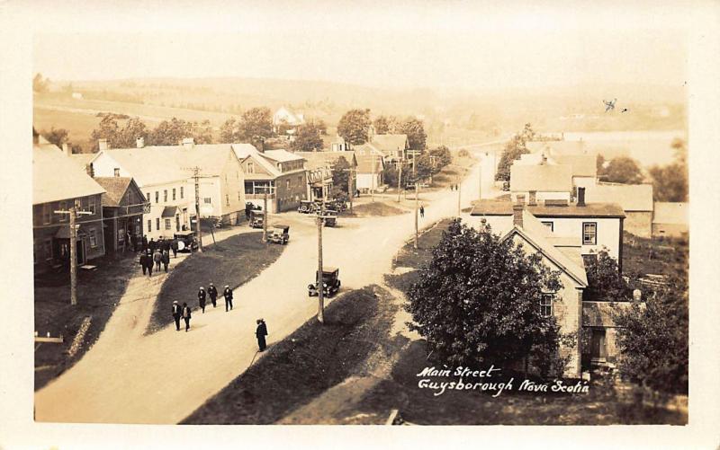
[[[130,278],[137,274],[137,255],[128,252],[119,259],[105,257],[96,261],[93,272],[78,271],[77,304],[70,304],[70,276],[67,271],[39,276],[34,284],[35,331],[40,336],[62,334],[62,344],[35,344],[35,390],[73,366],[90,349],[105,328]],[[76,353],[69,355],[85,317],[90,327]]]

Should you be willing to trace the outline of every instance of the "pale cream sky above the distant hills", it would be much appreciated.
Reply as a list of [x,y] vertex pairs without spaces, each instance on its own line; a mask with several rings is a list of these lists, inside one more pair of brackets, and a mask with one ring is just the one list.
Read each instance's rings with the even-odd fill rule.
[[70,2],[34,23],[33,71],[63,81],[238,76],[467,90],[686,79],[680,4],[197,4],[89,4],[78,16]]

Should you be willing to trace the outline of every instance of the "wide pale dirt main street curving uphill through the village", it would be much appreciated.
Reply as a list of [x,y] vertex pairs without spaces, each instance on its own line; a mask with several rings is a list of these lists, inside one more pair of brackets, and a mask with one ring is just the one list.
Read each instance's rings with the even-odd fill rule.
[[[476,165],[463,182],[462,207],[477,199],[478,176]],[[420,227],[457,213],[456,191],[421,193],[420,198],[425,205]],[[141,336],[119,332],[117,324],[130,319],[130,309],[118,308],[94,348],[36,393],[35,418],[175,424],[242,374],[256,354],[257,318],[265,318],[272,346],[317,313],[317,297],[307,295],[317,267],[316,227],[311,217],[296,213],[283,215],[283,221],[292,225],[288,248],[275,264],[235,291],[233,311],[195,311],[190,332],[171,326]],[[342,293],[383,282],[393,255],[413,234],[414,215],[342,218],[338,225],[323,229],[323,246],[325,265],[340,268]],[[187,296],[178,301],[196,306],[194,289],[188,287]],[[147,303],[137,308],[140,316],[131,319],[145,323],[143,314],[151,312],[154,298],[142,298],[129,288],[120,301]]]

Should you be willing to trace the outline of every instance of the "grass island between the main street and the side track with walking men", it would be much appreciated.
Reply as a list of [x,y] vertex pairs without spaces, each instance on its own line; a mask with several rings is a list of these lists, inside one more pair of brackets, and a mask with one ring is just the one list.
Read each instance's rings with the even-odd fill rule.
[[[157,295],[146,334],[159,331],[173,322],[170,310],[174,300],[197,306],[199,287],[214,283],[218,288],[218,301],[223,304],[222,289],[229,285],[233,289],[241,286],[275,262],[285,246],[262,243],[262,232],[243,233],[231,236],[215,245],[203,248],[172,268],[160,293]],[[207,239],[208,236],[203,236]],[[173,259],[170,259],[172,265]],[[237,299],[236,299],[237,302]],[[210,303],[210,298],[207,299]]]

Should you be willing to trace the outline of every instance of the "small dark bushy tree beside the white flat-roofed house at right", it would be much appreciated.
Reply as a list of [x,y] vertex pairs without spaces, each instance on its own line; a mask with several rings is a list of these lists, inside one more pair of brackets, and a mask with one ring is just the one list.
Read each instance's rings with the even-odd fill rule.
[[597,258],[587,258],[585,272],[588,275],[588,288],[583,292],[583,300],[625,302],[632,298],[630,287],[617,267],[617,260],[607,250],[599,251]]

